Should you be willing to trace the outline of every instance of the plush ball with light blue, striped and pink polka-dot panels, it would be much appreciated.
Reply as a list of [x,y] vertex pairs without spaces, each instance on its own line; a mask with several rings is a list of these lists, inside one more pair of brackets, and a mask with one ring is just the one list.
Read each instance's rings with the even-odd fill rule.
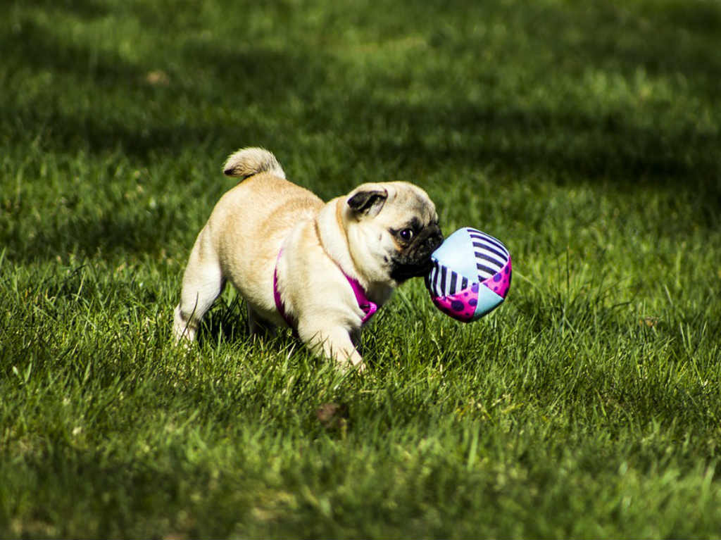
[[431,254],[425,278],[433,304],[461,322],[480,319],[500,306],[510,288],[510,253],[477,229],[459,229]]

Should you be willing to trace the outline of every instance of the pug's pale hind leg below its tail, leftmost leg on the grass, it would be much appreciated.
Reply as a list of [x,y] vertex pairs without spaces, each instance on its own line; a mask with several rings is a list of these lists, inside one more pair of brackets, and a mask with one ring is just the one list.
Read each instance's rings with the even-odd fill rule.
[[175,341],[195,340],[200,319],[210,309],[225,286],[218,255],[211,246],[205,228],[198,234],[182,278],[180,304],[175,308]]

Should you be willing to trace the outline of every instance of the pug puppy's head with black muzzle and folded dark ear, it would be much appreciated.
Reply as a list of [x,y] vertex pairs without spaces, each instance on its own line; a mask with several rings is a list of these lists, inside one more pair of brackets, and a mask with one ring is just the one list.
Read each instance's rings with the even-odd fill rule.
[[363,184],[346,200],[348,247],[370,280],[397,286],[423,276],[443,242],[435,205],[407,182]]

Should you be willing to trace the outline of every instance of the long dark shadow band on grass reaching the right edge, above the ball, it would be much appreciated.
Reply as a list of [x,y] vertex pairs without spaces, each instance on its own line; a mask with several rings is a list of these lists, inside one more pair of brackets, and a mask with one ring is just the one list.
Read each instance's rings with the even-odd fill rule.
[[[496,110],[467,103],[455,103],[445,111],[378,102],[371,108],[390,124],[407,125],[418,134],[403,141],[389,137],[383,144],[373,143],[373,154],[381,159],[402,159],[423,169],[448,163],[492,164],[510,175],[543,172],[562,180],[649,180],[678,190],[706,187],[715,195],[721,193],[720,139],[689,125],[657,130],[621,115],[592,118],[572,111]],[[423,134],[438,126],[460,133],[461,138],[482,141],[477,146],[435,140],[429,145]],[[492,134],[479,137],[479,133]],[[365,146],[356,150],[359,155],[371,151]]]

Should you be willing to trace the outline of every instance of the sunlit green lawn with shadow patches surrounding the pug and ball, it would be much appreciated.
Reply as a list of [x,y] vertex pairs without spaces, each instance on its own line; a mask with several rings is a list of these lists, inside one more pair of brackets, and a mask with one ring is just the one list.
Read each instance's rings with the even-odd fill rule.
[[[704,0],[11,2],[0,536],[718,536],[720,34]],[[233,291],[174,348],[249,145],[324,198],[425,187],[508,301],[407,283],[363,376]]]

